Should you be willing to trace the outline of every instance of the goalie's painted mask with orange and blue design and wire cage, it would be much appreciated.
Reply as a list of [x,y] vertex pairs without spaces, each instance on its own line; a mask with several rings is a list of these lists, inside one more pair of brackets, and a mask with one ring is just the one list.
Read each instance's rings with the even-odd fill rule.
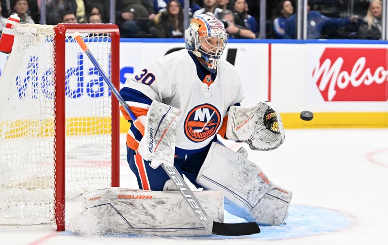
[[193,52],[210,72],[217,71],[227,38],[224,24],[212,13],[196,16],[185,31],[186,49]]

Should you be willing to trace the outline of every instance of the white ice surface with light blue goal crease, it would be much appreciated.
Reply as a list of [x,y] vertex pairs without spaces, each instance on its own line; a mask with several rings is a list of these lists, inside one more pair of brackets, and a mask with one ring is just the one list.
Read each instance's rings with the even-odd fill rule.
[[[261,227],[260,234],[245,237],[161,238],[77,236],[67,221],[65,232],[49,226],[0,226],[0,244],[387,245],[388,129],[286,130],[286,135],[285,143],[274,151],[248,149],[248,159],[275,183],[292,190],[287,225]],[[135,188],[124,141],[122,135],[120,185]],[[234,150],[244,145],[225,144]],[[78,204],[68,205],[66,219],[78,212]],[[231,215],[225,219],[241,221]]]

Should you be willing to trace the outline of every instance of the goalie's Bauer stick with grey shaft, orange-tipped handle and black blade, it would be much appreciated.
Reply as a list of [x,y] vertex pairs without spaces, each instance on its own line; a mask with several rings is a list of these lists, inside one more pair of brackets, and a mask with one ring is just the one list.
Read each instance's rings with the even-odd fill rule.
[[[104,81],[111,89],[112,94],[125,108],[125,111],[127,112],[127,114],[129,114],[133,123],[140,123],[137,120],[136,116],[130,111],[129,106],[121,97],[121,95],[118,93],[117,89],[113,86],[113,83],[111,82],[111,80],[108,78],[108,76],[105,74],[101,66],[98,64],[96,58],[93,56],[92,52],[89,50],[86,43],[81,38],[80,33],[75,32],[72,34],[72,37],[77,41],[77,43],[80,45],[81,49],[85,52],[85,54],[88,56],[88,58],[93,63],[93,65],[96,66],[101,77],[104,79]],[[198,199],[194,196],[193,192],[187,186],[186,182],[179,174],[177,168],[174,165],[168,166],[164,163],[162,163],[161,165],[164,171],[167,173],[168,177],[174,182],[175,186],[180,191],[180,194],[183,196],[183,198],[189,204],[190,208],[193,210],[193,212],[195,213],[195,216],[199,219],[199,221],[202,223],[205,229],[207,229],[209,232],[211,232],[212,234],[223,235],[223,236],[242,236],[242,235],[251,235],[251,234],[260,233],[259,226],[255,222],[230,224],[230,223],[220,223],[220,222],[213,221],[209,217],[209,215],[205,212],[205,210],[202,208],[201,204],[199,203]]]

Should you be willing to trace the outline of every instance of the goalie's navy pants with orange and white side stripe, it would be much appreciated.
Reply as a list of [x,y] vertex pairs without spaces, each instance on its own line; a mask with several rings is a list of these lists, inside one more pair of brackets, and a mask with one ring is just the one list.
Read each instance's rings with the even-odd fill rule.
[[[210,147],[210,146],[209,146]],[[205,161],[208,154],[209,147],[198,153],[177,156],[174,160],[174,165],[179,171],[180,175],[184,174],[190,182],[192,182],[196,188],[202,186],[197,184],[195,179],[197,178],[199,169],[202,163]],[[130,169],[136,175],[139,189],[162,191],[164,183],[170,180],[162,166],[157,169],[152,168],[149,163],[137,153],[127,146],[127,161]]]

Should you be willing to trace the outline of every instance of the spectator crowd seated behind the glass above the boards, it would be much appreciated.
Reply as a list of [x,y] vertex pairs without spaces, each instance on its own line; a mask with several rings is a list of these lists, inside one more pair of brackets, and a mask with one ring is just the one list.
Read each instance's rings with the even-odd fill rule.
[[[46,24],[109,23],[109,0],[0,0],[0,32],[7,17],[16,13],[20,23],[40,23],[41,2],[46,4]],[[190,0],[189,20],[211,12],[221,19],[230,38],[259,38],[259,0]],[[381,39],[381,0],[363,0],[359,15],[346,16],[335,2],[326,8],[308,1],[307,39]],[[357,0],[355,1],[357,3]],[[266,38],[296,38],[295,2],[267,0]],[[345,5],[347,3],[344,3]],[[349,5],[349,4],[348,4]],[[7,8],[8,6],[8,8]],[[334,6],[334,9],[333,9]],[[122,37],[182,38],[183,0],[116,0],[115,23]]]

